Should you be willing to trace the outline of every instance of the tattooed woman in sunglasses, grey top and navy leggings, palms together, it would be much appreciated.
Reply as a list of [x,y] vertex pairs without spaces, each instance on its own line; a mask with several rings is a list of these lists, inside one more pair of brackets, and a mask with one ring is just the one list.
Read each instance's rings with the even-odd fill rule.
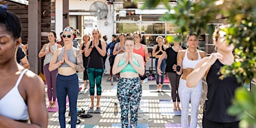
[[83,57],[79,49],[73,47],[72,39],[74,38],[71,28],[63,30],[64,47],[54,52],[53,58],[49,65],[49,70],[58,68],[56,76],[56,92],[59,105],[59,122],[60,127],[66,127],[66,97],[68,95],[69,109],[71,114],[71,127],[77,124],[77,96],[79,90],[78,76],[76,72],[82,72]]

